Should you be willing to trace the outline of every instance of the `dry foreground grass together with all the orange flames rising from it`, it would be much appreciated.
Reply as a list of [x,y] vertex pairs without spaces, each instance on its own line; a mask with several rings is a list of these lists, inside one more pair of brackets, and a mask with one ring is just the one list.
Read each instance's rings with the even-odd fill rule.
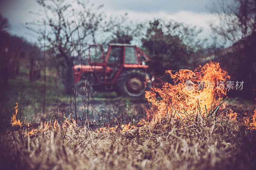
[[[88,130],[87,126],[80,128],[66,119],[61,125],[55,121],[37,129],[23,131],[20,128],[19,132],[0,137],[2,167],[255,168],[256,110],[254,115],[237,117],[223,102],[217,106],[216,99],[226,95],[225,89],[207,88],[209,82],[227,81],[227,72],[221,70],[218,63],[211,62],[195,72],[168,73],[177,84],[166,83],[161,89],[152,88],[147,92],[146,97],[153,107],[137,126],[120,125],[116,119],[116,127]],[[186,81],[206,81],[206,88],[187,90]],[[19,127],[19,122],[13,118],[13,125]]]

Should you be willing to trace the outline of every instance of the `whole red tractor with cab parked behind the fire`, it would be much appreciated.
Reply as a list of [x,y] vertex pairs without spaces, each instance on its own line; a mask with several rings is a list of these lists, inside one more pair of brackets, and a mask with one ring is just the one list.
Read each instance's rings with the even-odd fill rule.
[[135,45],[108,44],[106,54],[102,45],[89,45],[89,65],[74,67],[77,93],[113,90],[123,96],[143,97],[151,88],[145,65],[149,60]]

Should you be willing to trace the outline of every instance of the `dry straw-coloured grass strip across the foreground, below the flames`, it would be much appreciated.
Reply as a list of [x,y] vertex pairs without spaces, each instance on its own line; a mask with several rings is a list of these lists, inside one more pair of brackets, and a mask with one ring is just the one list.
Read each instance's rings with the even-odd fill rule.
[[254,132],[228,118],[162,119],[120,133],[74,127],[32,138],[11,132],[0,137],[0,163],[8,169],[249,169],[256,165],[255,142]]

